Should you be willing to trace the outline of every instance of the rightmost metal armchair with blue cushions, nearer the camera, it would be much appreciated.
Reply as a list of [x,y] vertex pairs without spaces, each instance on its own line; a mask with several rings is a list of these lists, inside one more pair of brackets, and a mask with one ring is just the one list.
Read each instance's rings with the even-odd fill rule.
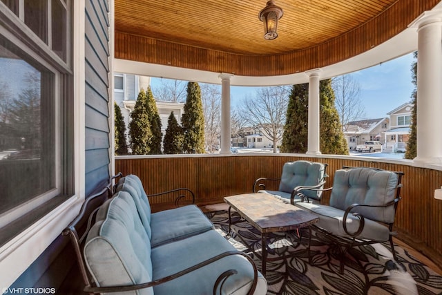
[[351,247],[389,241],[396,260],[392,236],[402,176],[403,172],[344,166],[334,174],[333,187],[327,189],[332,190],[329,205],[296,204],[316,214],[319,222],[314,228],[339,246],[341,273]]

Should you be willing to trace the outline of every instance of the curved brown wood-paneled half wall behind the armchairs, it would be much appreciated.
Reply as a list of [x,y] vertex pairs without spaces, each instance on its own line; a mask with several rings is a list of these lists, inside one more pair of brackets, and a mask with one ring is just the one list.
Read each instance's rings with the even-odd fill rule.
[[[398,239],[442,265],[442,201],[434,199],[434,189],[442,185],[442,171],[410,166],[407,162],[396,164],[346,157],[329,158],[327,155],[318,158],[297,155],[117,157],[115,171],[121,171],[123,175],[138,175],[147,193],[187,187],[195,192],[196,203],[201,206],[224,202],[224,196],[250,193],[256,178],[279,178],[282,165],[294,160],[327,163],[329,178],[325,187],[332,187],[334,171],[343,165],[403,171],[402,200],[398,204],[395,222]],[[328,200],[329,193],[325,193],[322,202],[327,204]],[[150,201],[153,211],[173,207],[166,198]]]

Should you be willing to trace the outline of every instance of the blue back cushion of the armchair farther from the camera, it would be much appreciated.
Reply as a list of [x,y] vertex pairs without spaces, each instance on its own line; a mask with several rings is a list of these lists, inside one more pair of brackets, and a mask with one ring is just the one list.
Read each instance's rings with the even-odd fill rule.
[[[301,185],[306,187],[317,185],[324,179],[324,175],[325,164],[303,160],[287,162],[282,166],[279,191],[291,193],[295,187]],[[320,191],[309,191],[305,189],[302,193],[309,198],[320,200]]]

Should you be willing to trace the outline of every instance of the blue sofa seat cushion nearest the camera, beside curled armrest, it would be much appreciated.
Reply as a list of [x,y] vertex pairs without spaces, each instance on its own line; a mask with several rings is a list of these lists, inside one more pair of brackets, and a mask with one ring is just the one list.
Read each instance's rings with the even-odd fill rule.
[[[202,234],[160,245],[152,249],[153,279],[163,278],[182,269],[235,248],[218,232]],[[253,282],[253,268],[242,256],[228,256],[162,285],[153,287],[156,295],[213,294],[215,281],[227,269],[236,269],[223,285],[222,294],[247,294]],[[259,272],[258,272],[259,274]],[[255,294],[266,294],[267,281],[259,274]]]

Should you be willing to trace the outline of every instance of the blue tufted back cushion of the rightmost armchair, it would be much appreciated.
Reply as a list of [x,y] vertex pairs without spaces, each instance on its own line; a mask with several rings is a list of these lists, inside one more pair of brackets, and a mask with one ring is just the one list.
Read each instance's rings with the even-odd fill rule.
[[[398,175],[369,168],[338,170],[334,174],[330,206],[341,210],[352,204],[382,205],[396,198]],[[394,206],[356,207],[352,212],[381,222],[394,222]]]

